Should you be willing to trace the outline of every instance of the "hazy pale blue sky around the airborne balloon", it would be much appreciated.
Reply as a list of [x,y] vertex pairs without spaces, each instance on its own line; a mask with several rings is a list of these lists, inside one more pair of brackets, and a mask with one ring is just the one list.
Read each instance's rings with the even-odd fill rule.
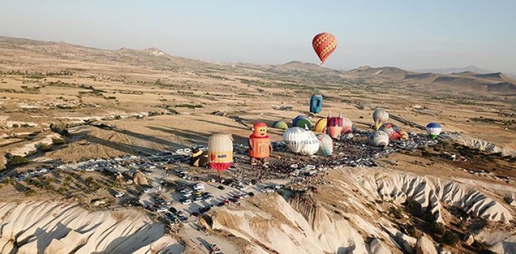
[[90,47],[159,47],[186,58],[327,67],[466,67],[516,73],[516,1],[0,0],[0,35]]

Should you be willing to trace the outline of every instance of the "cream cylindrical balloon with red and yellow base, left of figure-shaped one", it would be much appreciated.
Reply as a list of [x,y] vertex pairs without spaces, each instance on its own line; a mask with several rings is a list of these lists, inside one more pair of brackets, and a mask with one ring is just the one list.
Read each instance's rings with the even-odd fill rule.
[[215,133],[208,140],[208,163],[210,168],[222,172],[233,164],[233,137]]

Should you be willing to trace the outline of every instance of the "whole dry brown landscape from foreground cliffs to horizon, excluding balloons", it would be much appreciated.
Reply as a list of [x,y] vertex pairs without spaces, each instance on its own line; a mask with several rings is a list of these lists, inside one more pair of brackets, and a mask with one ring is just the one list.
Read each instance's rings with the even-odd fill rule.
[[[213,63],[150,47],[0,37],[0,253],[207,253],[213,242],[224,253],[516,253],[515,84],[504,73]],[[281,145],[283,130],[269,128],[270,167],[248,165],[252,124],[309,115],[314,93],[324,102],[312,124],[329,111],[353,122],[334,157],[295,156]],[[377,107],[411,139],[369,146]],[[446,133],[419,146],[428,122]],[[113,197],[142,192],[116,180],[133,179],[72,167],[206,146],[213,132],[233,134],[234,169],[217,174],[174,161],[138,178],[157,186],[172,169],[195,181],[266,177],[250,187],[255,196],[178,227]],[[292,164],[309,163],[327,167],[290,178]],[[17,178],[41,168],[51,171]],[[259,193],[278,181],[285,186]]]

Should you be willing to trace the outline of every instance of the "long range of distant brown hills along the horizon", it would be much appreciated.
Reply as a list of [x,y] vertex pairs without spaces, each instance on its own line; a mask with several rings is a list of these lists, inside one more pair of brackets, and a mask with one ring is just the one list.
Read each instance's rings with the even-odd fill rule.
[[[308,62],[291,61],[283,65],[255,65],[249,63],[213,63],[171,56],[161,49],[118,50],[95,49],[63,42],[34,41],[24,38],[0,36],[0,49],[9,49],[12,55],[28,52],[43,58],[58,58],[84,62],[97,62],[116,65],[135,65],[149,69],[184,70],[193,73],[227,71],[235,74],[249,73],[273,80],[291,81],[301,78],[310,82],[333,82],[342,84],[354,78],[369,79],[370,82],[396,82],[400,87],[410,85],[418,89],[439,89],[442,91],[516,95],[516,80],[500,72],[490,72],[474,66],[465,68],[429,69],[422,72],[407,71],[397,67],[362,66],[350,71],[338,71]],[[347,81],[346,81],[347,82]]]

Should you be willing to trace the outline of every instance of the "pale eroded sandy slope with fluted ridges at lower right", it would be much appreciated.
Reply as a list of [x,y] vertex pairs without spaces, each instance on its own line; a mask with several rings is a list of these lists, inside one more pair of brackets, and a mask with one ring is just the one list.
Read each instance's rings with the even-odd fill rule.
[[[514,209],[500,203],[488,184],[480,192],[466,183],[372,168],[335,170],[327,179],[330,184],[314,198],[271,194],[218,211],[213,214],[213,229],[248,241],[250,253],[400,253],[413,251],[416,239],[383,217],[386,211],[381,212],[381,206],[371,206],[375,200],[394,205],[414,200],[444,224],[449,223],[442,216],[444,207],[451,206],[486,220],[513,220]],[[497,244],[514,242],[510,231],[498,234],[493,237],[485,229],[484,238],[491,239],[493,250],[499,249]]]

